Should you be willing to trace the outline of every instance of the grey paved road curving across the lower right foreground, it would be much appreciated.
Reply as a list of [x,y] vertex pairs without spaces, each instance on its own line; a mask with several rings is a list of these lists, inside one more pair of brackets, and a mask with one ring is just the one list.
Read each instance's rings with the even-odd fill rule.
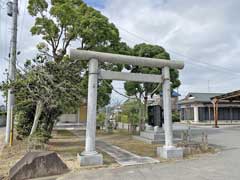
[[60,179],[87,180],[239,180],[240,127],[224,129],[199,128],[194,138],[201,139],[202,131],[209,133],[209,143],[221,151],[195,160],[172,163],[127,166],[115,169],[82,170]]

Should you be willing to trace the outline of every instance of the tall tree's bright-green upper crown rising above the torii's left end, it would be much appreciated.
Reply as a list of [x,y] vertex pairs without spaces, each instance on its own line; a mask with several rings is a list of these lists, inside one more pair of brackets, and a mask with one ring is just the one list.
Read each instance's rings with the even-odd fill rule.
[[115,25],[82,0],[29,0],[28,12],[35,17],[32,34],[44,40],[39,49],[51,51],[48,55],[56,62],[62,60],[73,41],[88,50],[114,48],[120,41]]

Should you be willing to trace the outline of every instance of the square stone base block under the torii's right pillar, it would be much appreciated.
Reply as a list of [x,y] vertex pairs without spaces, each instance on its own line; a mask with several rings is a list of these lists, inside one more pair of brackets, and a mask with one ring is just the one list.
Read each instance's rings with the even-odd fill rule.
[[177,148],[175,146],[158,147],[157,155],[164,159],[182,159],[183,158],[183,148]]

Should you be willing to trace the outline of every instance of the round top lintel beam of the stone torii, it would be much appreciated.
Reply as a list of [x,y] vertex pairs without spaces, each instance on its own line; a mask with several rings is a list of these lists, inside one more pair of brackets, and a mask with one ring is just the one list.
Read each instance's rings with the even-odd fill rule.
[[172,69],[183,69],[184,67],[183,61],[174,61],[174,60],[169,61],[165,59],[126,56],[126,55],[102,53],[102,52],[96,52],[96,51],[70,49],[70,52],[68,54],[71,59],[79,59],[79,60],[97,59],[100,62],[109,62],[114,64],[130,64],[130,65],[159,67],[159,68],[168,66],[169,68],[172,68]]

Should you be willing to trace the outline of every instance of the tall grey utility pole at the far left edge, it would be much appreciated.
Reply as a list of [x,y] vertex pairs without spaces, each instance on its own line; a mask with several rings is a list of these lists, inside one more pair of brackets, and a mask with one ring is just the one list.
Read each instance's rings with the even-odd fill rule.
[[[18,16],[18,0],[13,0],[12,2],[12,36],[11,36],[11,57],[9,62],[9,80],[15,79],[16,73],[16,57],[17,57],[17,16]],[[6,135],[5,143],[10,142],[10,131],[12,126],[12,109],[14,107],[14,93],[12,89],[8,89],[8,99],[7,99],[7,125],[6,125]]]

